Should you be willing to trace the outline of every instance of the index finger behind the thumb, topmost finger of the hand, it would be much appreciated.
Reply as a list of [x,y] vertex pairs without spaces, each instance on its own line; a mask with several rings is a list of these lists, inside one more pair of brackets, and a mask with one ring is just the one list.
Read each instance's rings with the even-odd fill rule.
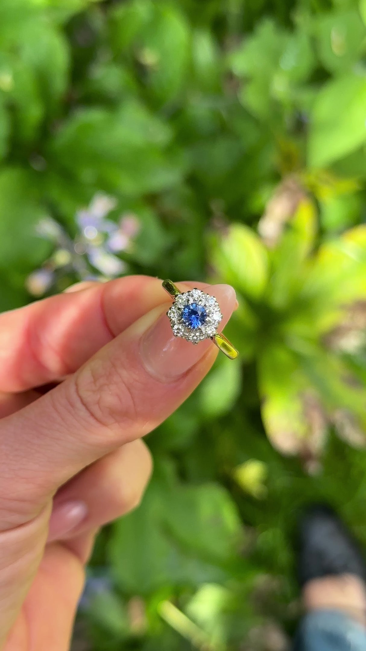
[[135,275],[3,312],[0,391],[26,391],[75,372],[163,301],[161,281]]

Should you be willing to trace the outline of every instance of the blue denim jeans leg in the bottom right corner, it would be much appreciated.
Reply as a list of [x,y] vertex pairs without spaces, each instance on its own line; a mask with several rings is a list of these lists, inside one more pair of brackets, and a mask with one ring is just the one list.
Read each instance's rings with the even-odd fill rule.
[[313,611],[300,624],[294,651],[366,651],[366,630],[339,611]]

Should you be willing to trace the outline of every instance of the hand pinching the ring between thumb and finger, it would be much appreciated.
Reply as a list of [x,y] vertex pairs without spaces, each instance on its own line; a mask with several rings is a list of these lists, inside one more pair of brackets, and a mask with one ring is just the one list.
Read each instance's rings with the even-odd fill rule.
[[[209,293],[224,325],[235,292]],[[170,303],[135,276],[0,314],[0,649],[69,648],[94,535],[150,476],[140,437],[215,360],[212,342],[172,336]]]

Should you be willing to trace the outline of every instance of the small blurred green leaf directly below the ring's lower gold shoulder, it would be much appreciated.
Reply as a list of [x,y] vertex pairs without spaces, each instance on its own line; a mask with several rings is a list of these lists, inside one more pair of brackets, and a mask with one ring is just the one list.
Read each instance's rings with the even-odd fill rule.
[[241,365],[222,356],[200,387],[200,408],[203,415],[222,416],[235,404],[241,393]]

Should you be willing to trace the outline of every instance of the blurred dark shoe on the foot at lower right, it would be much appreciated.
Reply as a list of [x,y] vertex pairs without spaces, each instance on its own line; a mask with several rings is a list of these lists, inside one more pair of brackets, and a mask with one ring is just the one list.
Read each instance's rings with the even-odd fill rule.
[[307,508],[299,527],[300,585],[323,576],[355,574],[366,581],[366,567],[358,544],[337,514],[326,505]]

